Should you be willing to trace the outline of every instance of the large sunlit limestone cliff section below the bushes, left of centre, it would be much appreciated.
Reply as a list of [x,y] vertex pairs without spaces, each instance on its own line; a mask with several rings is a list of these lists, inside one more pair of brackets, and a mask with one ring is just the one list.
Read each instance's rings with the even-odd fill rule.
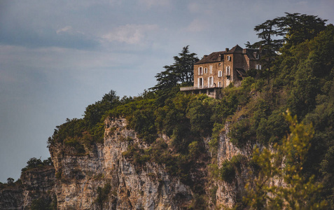
[[[104,144],[88,155],[75,155],[62,145],[50,148],[58,209],[180,209],[191,200],[190,188],[164,166],[137,167],[123,157],[129,144],[146,147],[125,125],[125,119],[106,120]],[[111,193],[103,197],[107,187]]]

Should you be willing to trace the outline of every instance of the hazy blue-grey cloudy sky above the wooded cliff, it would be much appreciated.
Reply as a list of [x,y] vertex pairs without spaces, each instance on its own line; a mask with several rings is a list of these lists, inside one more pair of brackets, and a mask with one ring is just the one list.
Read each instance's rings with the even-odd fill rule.
[[67,118],[110,90],[137,96],[189,45],[199,58],[258,41],[253,27],[287,13],[334,22],[333,0],[0,0],[0,182]]

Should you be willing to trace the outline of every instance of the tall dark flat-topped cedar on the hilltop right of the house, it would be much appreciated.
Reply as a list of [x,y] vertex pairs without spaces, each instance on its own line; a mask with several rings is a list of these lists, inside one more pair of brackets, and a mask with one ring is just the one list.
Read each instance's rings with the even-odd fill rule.
[[277,56],[276,52],[280,51],[283,46],[290,48],[291,45],[314,38],[320,31],[326,29],[326,21],[314,15],[286,13],[285,17],[266,20],[263,24],[254,27],[261,41],[253,44],[247,42],[246,47],[259,48],[263,53],[260,62],[263,64],[263,69],[267,69],[268,83],[270,67]]

